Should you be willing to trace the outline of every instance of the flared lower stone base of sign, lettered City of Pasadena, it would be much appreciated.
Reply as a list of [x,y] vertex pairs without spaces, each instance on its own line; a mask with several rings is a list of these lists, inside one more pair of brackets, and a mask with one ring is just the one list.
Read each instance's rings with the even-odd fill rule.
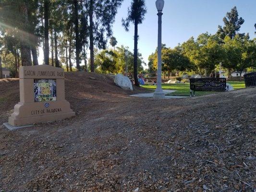
[[12,126],[22,126],[33,123],[48,122],[70,118],[75,112],[66,100],[37,103],[21,103],[14,106],[14,112],[8,123]]

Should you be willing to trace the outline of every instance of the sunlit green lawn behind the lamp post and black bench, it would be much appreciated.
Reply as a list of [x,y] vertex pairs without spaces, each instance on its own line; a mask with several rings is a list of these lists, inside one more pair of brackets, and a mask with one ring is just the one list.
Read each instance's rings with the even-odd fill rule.
[[[234,82],[234,81],[229,81],[227,82],[228,84],[231,84],[234,89],[242,89],[245,88],[244,82]],[[156,89],[156,85],[141,85],[142,87],[146,89]],[[163,89],[174,89],[176,92],[168,94],[170,96],[190,96],[190,88],[189,84],[162,84]],[[198,91],[195,92],[196,96],[204,96],[208,94],[214,94],[217,92],[211,92],[211,91]]]

